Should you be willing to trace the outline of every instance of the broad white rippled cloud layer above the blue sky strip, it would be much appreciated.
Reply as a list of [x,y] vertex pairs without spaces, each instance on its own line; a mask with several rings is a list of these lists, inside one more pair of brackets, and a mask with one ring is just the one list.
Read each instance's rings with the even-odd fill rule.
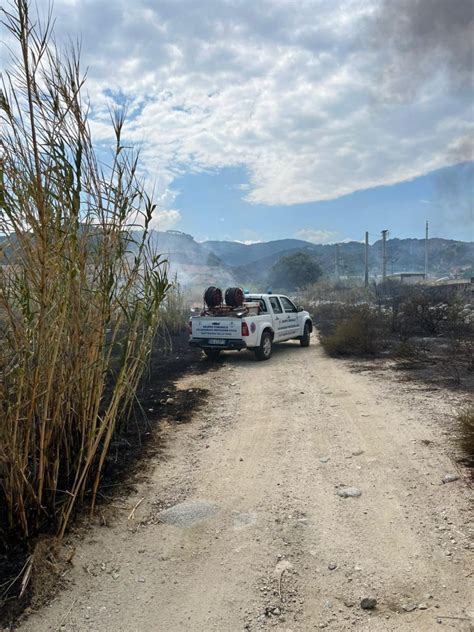
[[[404,0],[407,12],[409,5]],[[453,88],[448,76],[455,52],[449,65],[438,55],[430,66],[430,46],[443,49],[445,30],[427,38],[423,72],[408,89],[400,76],[409,76],[413,56],[394,48],[400,24],[393,26],[391,10],[381,21],[387,7],[376,0],[84,0],[74,7],[56,0],[55,12],[58,34],[83,34],[94,134],[107,138],[107,104],[125,96],[127,140],[142,145],[157,191],[171,200],[160,204],[170,208],[173,181],[186,172],[244,167],[247,200],[290,205],[458,162],[472,106],[468,90]],[[367,36],[374,15],[376,25],[392,29],[383,55]]]

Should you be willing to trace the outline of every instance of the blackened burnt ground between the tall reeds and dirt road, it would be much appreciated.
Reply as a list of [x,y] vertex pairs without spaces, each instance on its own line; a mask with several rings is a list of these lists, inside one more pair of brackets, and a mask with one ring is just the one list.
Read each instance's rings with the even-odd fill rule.
[[[216,365],[203,360],[200,350],[189,347],[186,332],[171,339],[157,337],[136,404],[111,444],[94,516],[90,516],[86,499],[70,526],[75,537],[80,536],[81,531],[86,533],[91,524],[106,525],[112,520],[114,499],[119,494],[133,493],[135,486],[143,480],[147,458],[161,452],[160,420],[166,418],[169,423],[186,423],[205,401],[205,389],[195,388],[183,395],[175,388],[176,380],[185,373],[199,375],[215,368]],[[46,559],[49,572],[43,568],[38,573],[42,586],[32,580],[29,590],[20,599],[22,571],[31,551],[42,539],[49,543],[51,555]],[[68,544],[67,537],[65,544]],[[45,525],[44,533],[36,534],[31,541],[15,541],[13,537],[6,550],[0,549],[0,626],[13,628],[25,609],[47,601],[58,588],[65,569],[67,572],[67,559],[58,560],[52,554],[52,548],[51,526]],[[73,552],[68,555],[71,557]]]

